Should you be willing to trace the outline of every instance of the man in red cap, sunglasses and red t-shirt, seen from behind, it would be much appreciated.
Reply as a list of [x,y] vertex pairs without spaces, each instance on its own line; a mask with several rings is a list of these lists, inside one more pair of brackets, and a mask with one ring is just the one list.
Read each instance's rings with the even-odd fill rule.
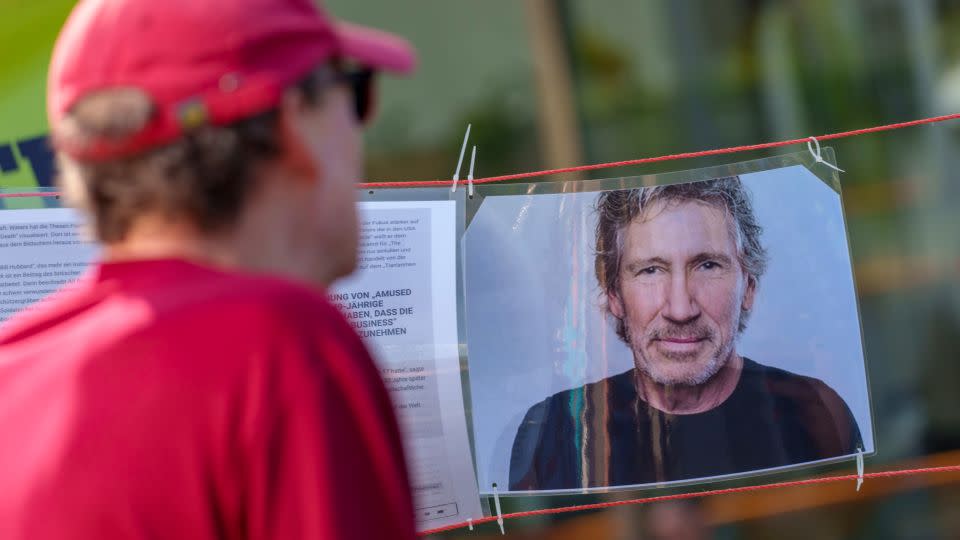
[[102,261],[0,329],[0,538],[413,538],[392,407],[324,287],[352,271],[374,70],[310,0],[84,0],[61,185]]

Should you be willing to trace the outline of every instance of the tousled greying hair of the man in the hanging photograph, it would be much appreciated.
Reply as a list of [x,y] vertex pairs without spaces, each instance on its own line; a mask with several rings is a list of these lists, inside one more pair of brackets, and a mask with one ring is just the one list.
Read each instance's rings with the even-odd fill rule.
[[[737,244],[737,257],[754,286],[767,267],[767,251],[760,243],[763,228],[753,213],[750,193],[738,176],[716,178],[668,186],[606,191],[596,203],[597,231],[594,261],[597,282],[604,296],[620,291],[620,263],[623,256],[623,232],[655,203],[700,201],[722,208],[732,217],[730,234]],[[607,304],[606,310],[610,312]],[[614,318],[616,315],[610,313]],[[740,318],[739,332],[747,326],[747,313]],[[626,323],[617,318],[617,335],[626,341]]]

